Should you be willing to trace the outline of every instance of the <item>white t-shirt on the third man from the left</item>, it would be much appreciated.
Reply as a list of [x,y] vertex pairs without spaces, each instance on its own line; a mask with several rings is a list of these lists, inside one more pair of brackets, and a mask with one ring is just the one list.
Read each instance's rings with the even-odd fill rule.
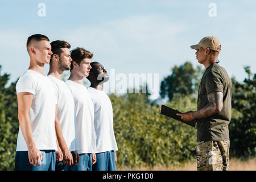
[[79,140],[79,154],[95,153],[96,136],[93,125],[93,101],[84,85],[67,80],[75,102],[75,120]]

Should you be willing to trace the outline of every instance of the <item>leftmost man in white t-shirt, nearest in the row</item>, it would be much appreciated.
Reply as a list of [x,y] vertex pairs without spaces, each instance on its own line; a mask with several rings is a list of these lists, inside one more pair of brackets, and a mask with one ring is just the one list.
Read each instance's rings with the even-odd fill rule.
[[19,133],[15,170],[55,170],[55,115],[57,97],[52,81],[43,74],[52,51],[45,35],[27,39],[30,67],[16,84]]

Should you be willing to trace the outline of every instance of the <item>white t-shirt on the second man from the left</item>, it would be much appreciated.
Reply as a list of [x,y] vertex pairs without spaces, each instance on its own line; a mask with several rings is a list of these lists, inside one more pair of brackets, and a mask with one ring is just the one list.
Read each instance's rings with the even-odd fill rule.
[[69,151],[78,150],[76,140],[75,104],[71,90],[64,81],[51,75],[48,77],[53,81],[57,92],[57,118],[59,119],[61,131]]

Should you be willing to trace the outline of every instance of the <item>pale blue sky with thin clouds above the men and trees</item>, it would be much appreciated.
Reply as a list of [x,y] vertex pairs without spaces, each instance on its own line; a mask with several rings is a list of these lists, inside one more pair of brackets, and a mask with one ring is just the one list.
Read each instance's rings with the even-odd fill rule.
[[[46,16],[38,16],[39,3]],[[216,16],[208,14],[210,3]],[[255,8],[255,1],[0,0],[1,73],[9,73],[10,82],[21,76],[29,66],[27,37],[44,34],[88,49],[108,70],[159,73],[161,81],[175,65],[200,65],[190,46],[214,35],[222,44],[220,65],[243,81],[244,66],[256,73]]]

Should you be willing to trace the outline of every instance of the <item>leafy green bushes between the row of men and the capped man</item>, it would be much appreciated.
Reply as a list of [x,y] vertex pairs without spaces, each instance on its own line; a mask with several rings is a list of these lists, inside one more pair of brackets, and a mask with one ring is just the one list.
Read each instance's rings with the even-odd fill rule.
[[[175,94],[168,105],[184,111],[196,108],[192,96]],[[146,94],[110,95],[118,167],[168,166],[195,159],[196,129],[160,114]]]

